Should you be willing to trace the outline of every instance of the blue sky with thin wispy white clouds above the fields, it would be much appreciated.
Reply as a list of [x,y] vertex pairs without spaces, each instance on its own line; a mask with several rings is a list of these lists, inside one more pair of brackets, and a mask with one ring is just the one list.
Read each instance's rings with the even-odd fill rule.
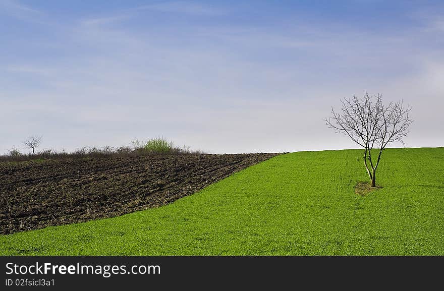
[[0,0],[0,154],[359,148],[322,119],[365,91],[444,146],[444,2]]

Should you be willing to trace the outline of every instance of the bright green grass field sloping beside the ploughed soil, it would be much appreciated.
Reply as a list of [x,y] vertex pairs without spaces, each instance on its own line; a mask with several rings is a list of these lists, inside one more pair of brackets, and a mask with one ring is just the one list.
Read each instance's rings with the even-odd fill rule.
[[444,148],[276,156],[173,204],[0,236],[2,255],[444,255]]

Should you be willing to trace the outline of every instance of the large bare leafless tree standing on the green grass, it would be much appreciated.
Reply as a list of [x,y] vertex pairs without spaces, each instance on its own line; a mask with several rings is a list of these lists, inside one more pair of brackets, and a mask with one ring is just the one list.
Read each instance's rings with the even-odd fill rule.
[[[409,118],[409,105],[404,107],[402,100],[382,104],[382,95],[369,96],[365,93],[362,99],[341,100],[340,112],[331,108],[331,117],[325,119],[328,127],[337,133],[343,133],[364,148],[364,165],[371,180],[371,187],[376,185],[376,169],[382,151],[392,142],[404,144],[403,138],[409,133],[413,122]],[[372,149],[377,149],[377,158],[372,158]]]

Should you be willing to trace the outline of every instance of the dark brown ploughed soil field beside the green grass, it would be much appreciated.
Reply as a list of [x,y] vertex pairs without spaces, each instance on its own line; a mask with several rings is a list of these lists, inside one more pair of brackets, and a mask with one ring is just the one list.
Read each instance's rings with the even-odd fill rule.
[[275,155],[183,154],[0,163],[0,234],[165,205]]

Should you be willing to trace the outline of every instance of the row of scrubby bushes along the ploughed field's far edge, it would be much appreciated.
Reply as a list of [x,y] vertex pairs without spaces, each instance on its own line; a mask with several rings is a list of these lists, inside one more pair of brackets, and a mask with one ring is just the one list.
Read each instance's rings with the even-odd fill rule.
[[0,161],[26,161],[35,159],[73,159],[84,157],[135,157],[147,156],[152,154],[204,154],[204,152],[190,151],[190,148],[183,146],[177,147],[173,142],[165,138],[152,138],[147,141],[133,140],[132,147],[122,146],[118,148],[105,146],[98,147],[83,147],[74,152],[66,152],[65,150],[56,151],[53,149],[45,149],[37,151],[34,154],[24,154],[20,150],[13,148],[7,155],[0,156]]

